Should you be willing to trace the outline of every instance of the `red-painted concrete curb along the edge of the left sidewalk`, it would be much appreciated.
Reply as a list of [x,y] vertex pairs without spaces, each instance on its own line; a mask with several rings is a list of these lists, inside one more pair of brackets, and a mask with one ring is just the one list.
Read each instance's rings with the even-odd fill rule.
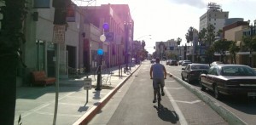
[[[137,66],[137,69],[140,67],[141,65]],[[112,98],[113,94],[115,94],[119,88],[121,88],[123,86],[123,84],[131,77],[131,75],[137,71],[137,69],[135,69],[134,71],[131,72],[131,74],[128,77],[125,77],[125,79],[122,82],[119,82],[119,84],[113,88],[113,90],[111,90],[107,95],[105,95],[99,102],[97,105],[94,105],[93,107],[90,108],[89,111],[87,111],[83,116],[81,116],[79,118],[78,121],[74,122],[73,125],[86,125],[88,122],[90,122],[90,120],[96,116],[96,113],[98,111],[100,111],[102,109],[102,107],[104,105],[106,105],[108,103],[108,100]]]

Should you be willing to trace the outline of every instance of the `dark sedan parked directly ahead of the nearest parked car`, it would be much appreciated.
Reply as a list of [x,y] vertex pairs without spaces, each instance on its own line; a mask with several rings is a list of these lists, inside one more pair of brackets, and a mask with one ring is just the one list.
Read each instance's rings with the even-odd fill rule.
[[198,81],[201,73],[206,73],[210,68],[207,64],[188,64],[182,68],[181,77],[183,81]]

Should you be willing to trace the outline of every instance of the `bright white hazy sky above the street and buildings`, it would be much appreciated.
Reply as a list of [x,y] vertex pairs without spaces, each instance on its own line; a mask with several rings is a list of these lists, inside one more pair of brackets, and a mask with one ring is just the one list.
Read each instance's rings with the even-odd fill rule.
[[155,42],[182,38],[190,26],[199,30],[200,17],[207,3],[217,3],[229,18],[256,20],[256,0],[74,0],[81,5],[128,4],[134,20],[134,40],[144,40],[149,54]]

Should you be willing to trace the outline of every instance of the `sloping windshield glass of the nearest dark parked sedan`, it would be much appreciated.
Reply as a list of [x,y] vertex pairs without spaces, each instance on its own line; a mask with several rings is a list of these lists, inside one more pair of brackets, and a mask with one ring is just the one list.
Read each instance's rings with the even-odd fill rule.
[[223,76],[256,76],[256,72],[247,66],[224,66],[221,73]]

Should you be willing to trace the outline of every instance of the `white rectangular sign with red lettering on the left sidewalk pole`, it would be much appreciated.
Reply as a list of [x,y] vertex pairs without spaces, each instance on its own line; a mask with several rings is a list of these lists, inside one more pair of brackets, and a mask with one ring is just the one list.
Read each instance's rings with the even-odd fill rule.
[[55,25],[53,31],[53,43],[65,42],[66,25]]

